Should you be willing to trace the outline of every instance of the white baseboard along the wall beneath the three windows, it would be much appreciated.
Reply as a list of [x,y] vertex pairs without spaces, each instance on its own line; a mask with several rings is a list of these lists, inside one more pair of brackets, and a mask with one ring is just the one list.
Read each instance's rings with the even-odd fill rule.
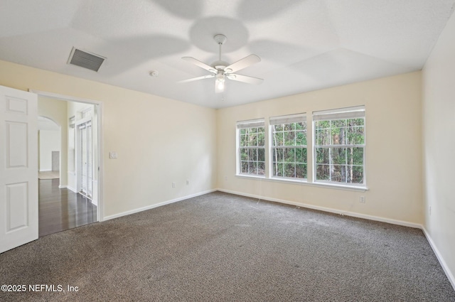
[[360,214],[360,213],[356,213],[356,212],[348,212],[348,211],[343,211],[343,210],[336,210],[336,209],[333,209],[331,207],[319,207],[317,205],[309,205],[309,204],[306,204],[306,203],[296,203],[294,201],[282,200],[282,199],[278,199],[278,198],[268,198],[268,197],[264,197],[264,196],[247,194],[247,193],[242,193],[242,192],[236,192],[236,191],[232,191],[232,190],[218,189],[218,191],[225,192],[225,193],[231,193],[231,194],[235,194],[235,195],[242,195],[242,196],[250,197],[250,198],[269,200],[269,201],[273,201],[273,202],[276,202],[276,203],[284,203],[284,204],[287,204],[287,205],[295,205],[297,207],[306,207],[306,208],[312,209],[312,210],[319,210],[319,211],[323,211],[323,212],[331,212],[331,213],[335,213],[335,214],[339,214],[339,215],[346,215],[346,216],[350,216],[350,217],[363,218],[363,219],[367,219],[367,220],[387,222],[387,223],[390,223],[392,225],[402,225],[404,227],[414,227],[415,229],[421,229],[422,228],[422,225],[419,225],[417,223],[412,223],[412,222],[407,222],[407,221],[402,221],[402,220],[393,220],[393,219],[390,219],[390,218],[384,218],[384,217],[378,217],[378,216],[372,216],[372,215],[365,215],[365,214]]

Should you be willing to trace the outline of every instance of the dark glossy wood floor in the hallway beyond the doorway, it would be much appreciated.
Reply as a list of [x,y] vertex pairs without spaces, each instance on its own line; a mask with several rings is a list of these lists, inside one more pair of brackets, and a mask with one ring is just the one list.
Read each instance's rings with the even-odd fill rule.
[[40,179],[39,236],[97,222],[97,207],[90,199],[68,189],[60,189],[60,180]]

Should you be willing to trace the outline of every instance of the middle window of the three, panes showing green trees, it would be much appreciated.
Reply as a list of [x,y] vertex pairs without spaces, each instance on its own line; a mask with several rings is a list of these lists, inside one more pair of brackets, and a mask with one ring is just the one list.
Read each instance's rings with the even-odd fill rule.
[[271,117],[272,166],[277,178],[306,179],[306,116],[293,114]]

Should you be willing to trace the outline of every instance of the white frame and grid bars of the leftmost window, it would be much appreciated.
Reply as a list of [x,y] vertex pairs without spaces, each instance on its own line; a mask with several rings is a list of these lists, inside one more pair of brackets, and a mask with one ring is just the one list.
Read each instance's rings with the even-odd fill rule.
[[[240,146],[240,135],[242,129],[252,129],[252,128],[263,128],[264,129],[264,145],[263,146]],[[265,127],[265,119],[251,119],[247,121],[240,121],[236,124],[236,131],[235,131],[235,141],[236,141],[236,171],[235,174],[237,176],[244,176],[244,177],[252,177],[252,178],[265,178],[267,176],[267,132]],[[264,174],[253,174],[253,173],[242,173],[242,158],[240,154],[241,149],[263,149],[264,153],[264,161],[255,161],[257,163],[264,163]],[[259,158],[258,158],[259,159]],[[248,161],[250,162],[250,161]]]

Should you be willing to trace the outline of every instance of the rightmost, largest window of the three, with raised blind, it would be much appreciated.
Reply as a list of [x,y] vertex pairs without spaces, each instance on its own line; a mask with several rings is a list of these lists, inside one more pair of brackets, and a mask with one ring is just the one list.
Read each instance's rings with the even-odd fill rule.
[[365,107],[313,112],[314,182],[365,186]]

